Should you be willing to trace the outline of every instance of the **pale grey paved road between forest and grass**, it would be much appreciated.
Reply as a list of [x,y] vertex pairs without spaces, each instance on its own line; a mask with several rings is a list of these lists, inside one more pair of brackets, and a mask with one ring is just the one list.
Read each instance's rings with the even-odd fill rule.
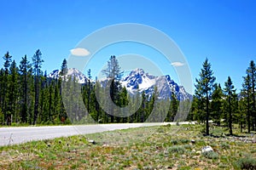
[[[0,146],[8,144],[21,144],[32,140],[54,139],[63,136],[99,133],[115,129],[157,126],[163,124],[167,123],[121,123],[49,127],[0,127]],[[174,122],[171,124],[174,124]]]

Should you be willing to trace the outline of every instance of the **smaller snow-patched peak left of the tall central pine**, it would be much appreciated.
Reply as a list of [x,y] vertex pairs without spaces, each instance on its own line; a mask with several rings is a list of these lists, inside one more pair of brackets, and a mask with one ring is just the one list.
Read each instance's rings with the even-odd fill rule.
[[[49,73],[48,77],[49,78],[59,78],[61,77],[60,75],[61,71],[60,70],[55,70]],[[78,69],[75,68],[70,68],[67,70],[67,76],[71,76],[71,77],[75,77],[76,80],[81,83],[84,84],[86,82],[88,82],[88,78],[84,76],[84,74],[79,71]]]

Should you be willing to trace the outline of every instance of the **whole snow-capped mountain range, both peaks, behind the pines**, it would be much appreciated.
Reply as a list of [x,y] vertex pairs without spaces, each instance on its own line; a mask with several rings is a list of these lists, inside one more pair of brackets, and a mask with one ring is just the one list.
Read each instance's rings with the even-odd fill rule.
[[[52,71],[48,77],[59,78],[60,72],[59,70]],[[81,71],[75,68],[68,69],[67,76],[75,77],[82,84],[89,80]],[[90,80],[90,82],[94,81]],[[107,86],[108,79],[102,79],[100,82],[102,87],[105,87]],[[160,99],[170,99],[172,93],[176,94],[178,100],[192,99],[192,95],[188,94],[183,86],[178,86],[169,75],[156,77],[146,73],[143,69],[131,71],[129,75],[121,80],[121,84],[131,94],[144,91],[145,94],[151,96],[154,93],[154,87],[156,87]]]

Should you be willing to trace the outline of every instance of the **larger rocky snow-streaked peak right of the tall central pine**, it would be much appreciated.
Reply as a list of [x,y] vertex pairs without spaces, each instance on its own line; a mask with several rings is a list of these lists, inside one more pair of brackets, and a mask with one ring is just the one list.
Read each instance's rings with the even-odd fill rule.
[[172,93],[176,94],[179,100],[192,99],[192,95],[188,94],[183,86],[178,86],[169,75],[155,77],[145,73],[143,69],[131,71],[121,83],[131,94],[144,91],[146,94],[152,95],[156,86],[160,99],[171,98]]

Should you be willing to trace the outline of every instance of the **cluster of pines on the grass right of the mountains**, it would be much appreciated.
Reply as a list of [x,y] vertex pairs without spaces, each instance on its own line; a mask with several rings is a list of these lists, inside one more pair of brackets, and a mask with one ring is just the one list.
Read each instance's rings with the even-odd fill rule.
[[247,133],[256,130],[256,67],[253,60],[243,77],[240,92],[236,92],[231,77],[227,77],[224,88],[221,88],[213,76],[208,59],[203,62],[199,78],[195,82],[195,95],[188,118],[205,122],[207,135],[210,134],[209,120],[213,120],[218,126],[224,122],[224,126],[229,127],[230,135],[233,134],[233,123],[239,124],[241,132],[245,128]]

